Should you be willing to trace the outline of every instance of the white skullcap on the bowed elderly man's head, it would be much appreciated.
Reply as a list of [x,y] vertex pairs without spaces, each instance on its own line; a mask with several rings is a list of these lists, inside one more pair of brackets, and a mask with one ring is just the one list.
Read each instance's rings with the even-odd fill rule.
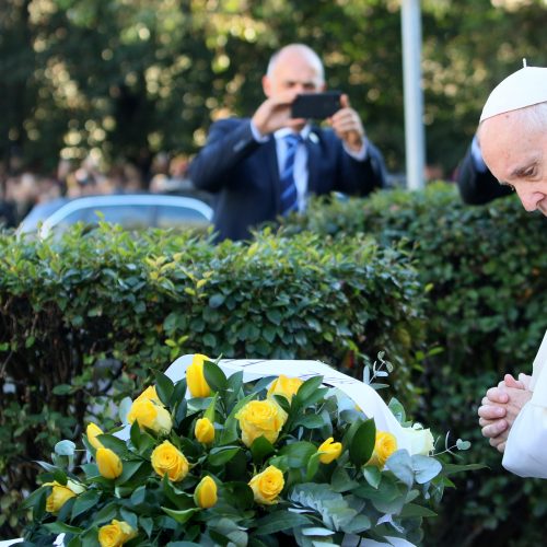
[[480,121],[547,102],[547,68],[524,67],[499,83],[487,98]]

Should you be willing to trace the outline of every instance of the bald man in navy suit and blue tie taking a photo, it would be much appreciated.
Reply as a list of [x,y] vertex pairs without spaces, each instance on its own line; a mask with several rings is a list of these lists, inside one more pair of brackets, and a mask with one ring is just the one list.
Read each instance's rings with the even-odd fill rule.
[[[268,65],[263,89],[267,98],[253,117],[214,123],[190,164],[195,186],[217,195],[219,240],[247,238],[249,228],[288,210],[303,211],[310,194],[365,196],[385,186],[382,154],[365,137],[347,95],[329,118],[330,128],[291,118],[298,94],[325,90],[323,65],[312,49],[302,44],[280,49]],[[287,187],[287,173],[292,189]],[[292,193],[294,203],[288,206],[287,195]]]

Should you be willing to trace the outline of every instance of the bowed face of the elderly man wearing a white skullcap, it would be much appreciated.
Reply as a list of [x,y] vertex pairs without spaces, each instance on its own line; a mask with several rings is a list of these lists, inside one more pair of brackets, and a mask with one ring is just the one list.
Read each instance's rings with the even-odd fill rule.
[[501,184],[511,185],[527,211],[547,216],[547,130],[525,128],[515,112],[480,126],[482,158]]

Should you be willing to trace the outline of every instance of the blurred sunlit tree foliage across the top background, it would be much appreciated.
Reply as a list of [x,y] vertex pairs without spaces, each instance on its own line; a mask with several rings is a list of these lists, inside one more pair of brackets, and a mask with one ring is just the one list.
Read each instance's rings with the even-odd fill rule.
[[[397,0],[4,0],[0,154],[48,170],[93,151],[146,171],[160,150],[195,152],[211,119],[251,114],[269,56],[304,42],[401,171],[399,12]],[[488,91],[522,57],[546,62],[546,21],[543,0],[422,2],[429,163],[451,171]]]

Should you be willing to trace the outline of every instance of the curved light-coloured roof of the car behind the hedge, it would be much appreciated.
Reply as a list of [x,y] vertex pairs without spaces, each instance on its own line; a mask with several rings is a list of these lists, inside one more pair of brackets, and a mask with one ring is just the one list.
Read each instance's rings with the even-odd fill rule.
[[72,211],[90,208],[106,208],[116,206],[168,206],[193,209],[202,214],[203,219],[211,221],[212,209],[203,201],[188,196],[173,196],[165,194],[103,194],[96,196],[82,196],[77,198],[58,198],[36,205],[21,222],[18,232],[27,233],[38,230],[42,222],[42,235],[47,235],[59,220]]

